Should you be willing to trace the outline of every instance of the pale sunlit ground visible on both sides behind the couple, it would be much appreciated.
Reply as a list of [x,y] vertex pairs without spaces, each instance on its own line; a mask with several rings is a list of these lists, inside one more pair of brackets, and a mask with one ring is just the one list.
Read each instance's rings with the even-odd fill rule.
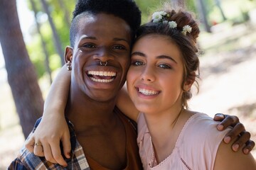
[[[208,113],[238,115],[256,141],[256,29],[223,24],[213,34],[202,33],[200,93],[191,99],[191,109]],[[47,80],[41,80],[43,91]],[[23,145],[11,90],[0,82],[0,169],[6,169]],[[46,94],[46,92],[44,92]],[[256,158],[256,149],[252,151]]]

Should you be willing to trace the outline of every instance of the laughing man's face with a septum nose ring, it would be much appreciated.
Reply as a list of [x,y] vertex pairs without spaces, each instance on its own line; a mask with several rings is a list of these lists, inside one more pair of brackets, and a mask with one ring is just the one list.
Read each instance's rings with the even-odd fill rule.
[[94,100],[113,98],[122,88],[129,68],[129,26],[121,18],[99,13],[81,17],[77,30],[71,84]]

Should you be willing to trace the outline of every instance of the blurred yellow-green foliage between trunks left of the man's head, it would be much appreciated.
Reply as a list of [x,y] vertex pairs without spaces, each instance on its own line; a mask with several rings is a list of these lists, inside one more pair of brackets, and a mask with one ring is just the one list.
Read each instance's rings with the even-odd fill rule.
[[[71,11],[75,6],[74,1],[62,1],[63,4],[59,3],[60,0],[48,0],[48,12],[50,13],[52,23],[54,23],[54,27],[56,33],[58,33],[58,39],[60,41],[60,46],[62,49],[65,49],[66,45],[69,45],[69,23],[71,19]],[[53,40],[53,31],[50,27],[50,22],[48,22],[48,15],[43,9],[41,1],[34,1],[37,9],[36,17],[38,23],[41,25],[41,35],[43,36],[44,41],[46,42],[46,50],[49,55],[49,64],[50,69],[55,70],[60,68],[62,65],[60,61],[63,61],[63,55],[58,55],[58,52],[55,47],[55,41]],[[65,11],[63,10],[63,7]],[[31,3],[28,3],[28,8],[33,11]],[[65,14],[66,13],[66,14]],[[66,15],[66,16],[65,16]],[[28,53],[31,57],[31,61],[36,66],[36,72],[38,73],[38,77],[42,77],[46,73],[46,67],[44,66],[43,59],[45,58],[43,54],[43,46],[41,45],[41,37],[38,34],[36,25],[32,26],[29,30],[31,34],[31,40],[26,42],[28,47]]]

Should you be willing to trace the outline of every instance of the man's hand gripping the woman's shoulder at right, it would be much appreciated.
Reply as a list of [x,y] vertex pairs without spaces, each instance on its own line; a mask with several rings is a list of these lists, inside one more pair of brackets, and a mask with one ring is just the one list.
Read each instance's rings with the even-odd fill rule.
[[242,152],[244,154],[248,154],[253,147],[255,147],[255,142],[250,140],[250,132],[245,130],[245,126],[239,122],[239,118],[235,115],[224,115],[222,113],[215,114],[213,120],[222,121],[218,126],[218,130],[225,130],[228,126],[232,126],[233,129],[230,130],[224,137],[223,141],[225,143],[229,143],[231,140],[238,137],[238,140],[232,145],[233,151],[237,152],[240,147],[242,148]]

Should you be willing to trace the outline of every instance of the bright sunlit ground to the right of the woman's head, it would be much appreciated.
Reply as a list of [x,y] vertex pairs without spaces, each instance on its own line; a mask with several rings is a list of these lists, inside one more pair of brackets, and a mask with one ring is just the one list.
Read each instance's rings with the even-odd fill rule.
[[[234,38],[237,27],[242,37]],[[193,94],[190,108],[211,117],[215,113],[237,115],[256,141],[256,27],[234,26],[211,36],[204,39],[211,40],[210,45],[201,42],[201,48],[204,50],[206,45],[206,50],[200,59],[200,92]],[[252,154],[256,158],[256,149]]]

